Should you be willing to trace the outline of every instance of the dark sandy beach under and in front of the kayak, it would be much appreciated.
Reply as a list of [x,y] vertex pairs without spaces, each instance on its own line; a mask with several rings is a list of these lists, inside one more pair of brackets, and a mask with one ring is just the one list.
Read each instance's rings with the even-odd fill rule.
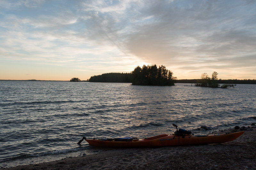
[[[215,132],[214,132],[215,133]],[[216,134],[227,131],[216,132]],[[256,169],[255,128],[223,144],[157,148],[106,148],[83,157],[40,164],[16,166],[6,170],[53,169]]]

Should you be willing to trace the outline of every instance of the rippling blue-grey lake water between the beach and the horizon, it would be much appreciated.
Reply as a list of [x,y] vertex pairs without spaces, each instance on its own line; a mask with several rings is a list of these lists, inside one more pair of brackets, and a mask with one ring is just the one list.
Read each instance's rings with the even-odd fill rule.
[[87,138],[150,137],[175,128],[207,134],[256,122],[256,85],[0,81],[0,167],[92,154]]

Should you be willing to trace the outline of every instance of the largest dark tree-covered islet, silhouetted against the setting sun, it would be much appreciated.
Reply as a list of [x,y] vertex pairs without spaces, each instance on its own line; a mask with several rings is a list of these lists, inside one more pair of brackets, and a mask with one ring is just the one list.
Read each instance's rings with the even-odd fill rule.
[[174,85],[177,78],[173,73],[161,65],[137,66],[132,71],[132,85]]

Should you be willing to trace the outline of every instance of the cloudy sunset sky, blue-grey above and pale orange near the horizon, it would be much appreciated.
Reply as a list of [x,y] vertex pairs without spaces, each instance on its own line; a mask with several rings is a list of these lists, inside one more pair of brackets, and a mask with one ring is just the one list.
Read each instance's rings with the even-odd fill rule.
[[164,65],[256,78],[254,0],[0,0],[0,79],[87,80]]

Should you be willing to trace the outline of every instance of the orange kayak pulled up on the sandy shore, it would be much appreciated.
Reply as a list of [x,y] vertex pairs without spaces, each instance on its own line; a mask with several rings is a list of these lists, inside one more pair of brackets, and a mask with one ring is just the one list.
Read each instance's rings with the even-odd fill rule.
[[240,135],[242,135],[244,131],[234,132],[234,133],[226,133],[219,135],[200,135],[200,136],[192,136],[192,135],[168,135],[162,134],[154,137],[148,137],[143,139],[133,139],[127,138],[126,141],[120,141],[116,139],[86,139],[85,140],[93,146],[101,146],[101,147],[154,147],[154,146],[180,146],[180,145],[198,145],[198,144],[217,144],[229,142]]

